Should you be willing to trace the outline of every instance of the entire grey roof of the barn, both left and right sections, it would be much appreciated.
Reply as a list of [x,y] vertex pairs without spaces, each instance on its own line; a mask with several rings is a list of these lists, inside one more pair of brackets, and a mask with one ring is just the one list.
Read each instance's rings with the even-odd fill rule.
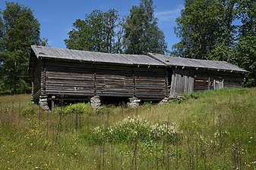
[[37,58],[80,60],[95,63],[119,63],[126,65],[144,66],[179,66],[189,68],[201,68],[207,70],[229,71],[236,73],[248,73],[238,66],[218,60],[198,60],[183,57],[171,57],[163,54],[109,54],[92,51],[78,51],[64,48],[52,48],[43,46],[31,46]]

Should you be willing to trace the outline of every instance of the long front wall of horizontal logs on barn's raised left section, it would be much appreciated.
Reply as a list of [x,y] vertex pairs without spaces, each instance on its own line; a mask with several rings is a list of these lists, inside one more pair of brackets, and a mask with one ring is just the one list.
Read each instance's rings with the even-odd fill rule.
[[41,68],[41,94],[48,96],[163,99],[168,89],[164,67],[43,60]]

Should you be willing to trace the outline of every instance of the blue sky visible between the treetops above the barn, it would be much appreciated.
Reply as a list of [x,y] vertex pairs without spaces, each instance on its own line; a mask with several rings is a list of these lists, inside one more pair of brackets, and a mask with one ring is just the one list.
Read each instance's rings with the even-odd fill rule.
[[[49,45],[55,48],[65,48],[64,39],[68,38],[68,32],[72,29],[72,23],[76,19],[83,19],[85,14],[90,14],[93,10],[108,11],[114,8],[119,11],[120,16],[127,16],[132,5],[139,5],[139,0],[14,0],[7,2],[19,2],[28,6],[41,25],[41,37],[49,40]],[[180,16],[180,11],[184,8],[184,0],[158,0],[155,17],[158,26],[163,30],[168,43],[168,49],[179,42],[174,33],[176,26],[175,18]],[[0,0],[0,9],[5,9],[5,0]]]

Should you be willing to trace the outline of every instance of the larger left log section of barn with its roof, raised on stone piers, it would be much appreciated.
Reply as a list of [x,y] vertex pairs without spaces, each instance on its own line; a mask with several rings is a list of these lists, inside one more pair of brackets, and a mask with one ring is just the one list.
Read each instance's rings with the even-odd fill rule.
[[161,100],[168,95],[166,65],[147,55],[106,54],[32,46],[32,100],[137,97]]

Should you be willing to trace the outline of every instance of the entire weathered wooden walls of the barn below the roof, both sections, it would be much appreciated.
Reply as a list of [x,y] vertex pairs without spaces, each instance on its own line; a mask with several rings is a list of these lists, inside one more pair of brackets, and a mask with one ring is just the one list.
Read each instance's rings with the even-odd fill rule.
[[52,95],[77,99],[99,95],[159,100],[192,91],[242,87],[243,83],[241,73],[36,60],[32,97],[33,101]]

